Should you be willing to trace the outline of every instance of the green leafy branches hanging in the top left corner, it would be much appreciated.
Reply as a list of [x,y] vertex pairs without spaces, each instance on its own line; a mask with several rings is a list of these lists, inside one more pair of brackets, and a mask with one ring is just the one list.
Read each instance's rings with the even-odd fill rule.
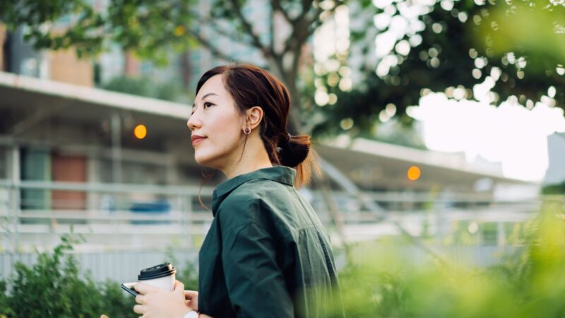
[[74,47],[79,57],[94,56],[117,42],[157,64],[167,64],[172,50],[194,47],[186,32],[194,0],[111,0],[100,10],[88,0],[2,1],[0,20],[15,29],[25,25],[24,39],[36,49]]

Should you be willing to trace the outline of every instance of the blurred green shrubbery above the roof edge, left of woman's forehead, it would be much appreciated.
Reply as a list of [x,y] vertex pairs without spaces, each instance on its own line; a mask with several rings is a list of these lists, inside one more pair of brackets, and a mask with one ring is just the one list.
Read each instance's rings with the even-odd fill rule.
[[182,86],[176,81],[155,83],[153,79],[148,77],[118,76],[103,84],[101,88],[173,102],[186,102],[188,100]]

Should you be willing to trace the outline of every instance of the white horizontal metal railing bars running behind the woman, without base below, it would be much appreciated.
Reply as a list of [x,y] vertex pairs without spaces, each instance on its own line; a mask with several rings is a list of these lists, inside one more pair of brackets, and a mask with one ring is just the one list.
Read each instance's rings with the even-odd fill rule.
[[[199,199],[210,206],[212,190],[210,187],[0,180],[3,250],[49,249],[71,228],[85,235],[87,242],[79,247],[83,251],[160,249],[175,244],[195,249],[213,220]],[[329,213],[327,199],[315,190],[302,191],[322,222],[335,234],[335,217]],[[32,192],[36,199],[24,195]],[[83,194],[83,199],[51,199],[53,193],[64,192]],[[453,222],[521,223],[535,215],[542,200],[496,201],[490,194],[410,192],[364,192],[362,196],[374,202],[374,211],[363,211],[358,199],[345,192],[334,191],[331,195],[344,225],[343,237],[350,241],[399,235],[398,225],[410,235],[421,236],[427,230],[441,240],[451,234],[449,225]]]

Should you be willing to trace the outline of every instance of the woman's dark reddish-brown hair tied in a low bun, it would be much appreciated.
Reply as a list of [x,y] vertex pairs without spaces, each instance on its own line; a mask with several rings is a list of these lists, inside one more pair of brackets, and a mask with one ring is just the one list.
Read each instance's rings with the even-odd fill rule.
[[263,120],[259,125],[261,140],[273,165],[286,165],[297,170],[295,184],[300,187],[310,181],[312,169],[319,171],[314,161],[310,136],[290,136],[287,131],[290,95],[287,88],[268,71],[250,64],[217,66],[198,81],[196,94],[211,77],[222,75],[225,88],[235,100],[237,110],[259,106]]

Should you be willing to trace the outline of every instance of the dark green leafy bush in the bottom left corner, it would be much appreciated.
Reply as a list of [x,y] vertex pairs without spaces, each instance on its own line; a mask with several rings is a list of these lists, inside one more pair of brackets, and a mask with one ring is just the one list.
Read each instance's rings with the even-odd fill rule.
[[118,283],[95,283],[89,273],[80,277],[76,259],[65,253],[76,242],[64,235],[52,254],[39,254],[34,266],[16,264],[16,277],[0,281],[0,317],[137,317],[133,297]]

